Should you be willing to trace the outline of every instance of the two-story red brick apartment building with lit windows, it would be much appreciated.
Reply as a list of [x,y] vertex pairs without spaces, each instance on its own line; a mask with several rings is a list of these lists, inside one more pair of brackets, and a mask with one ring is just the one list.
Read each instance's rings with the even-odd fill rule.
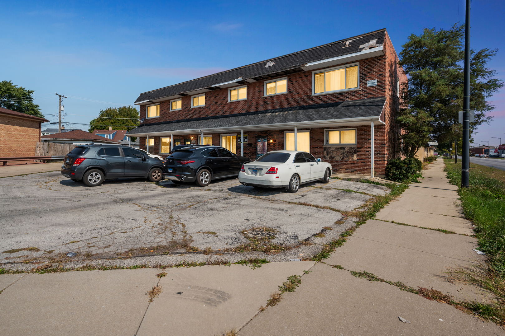
[[334,172],[381,176],[397,156],[394,118],[407,80],[397,61],[381,29],[144,92],[140,126],[128,135],[162,156],[196,143],[251,160],[302,150]]

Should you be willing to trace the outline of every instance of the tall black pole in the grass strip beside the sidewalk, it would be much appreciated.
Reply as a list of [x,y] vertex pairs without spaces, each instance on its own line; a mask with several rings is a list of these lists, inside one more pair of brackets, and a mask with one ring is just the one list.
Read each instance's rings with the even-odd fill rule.
[[465,80],[463,84],[463,151],[461,153],[461,187],[470,186],[470,2],[465,18]]

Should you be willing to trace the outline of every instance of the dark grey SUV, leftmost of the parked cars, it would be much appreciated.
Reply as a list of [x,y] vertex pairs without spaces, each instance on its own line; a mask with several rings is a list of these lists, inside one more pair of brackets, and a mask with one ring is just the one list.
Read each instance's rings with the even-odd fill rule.
[[128,146],[88,144],[77,146],[63,161],[62,175],[88,186],[105,179],[144,177],[152,182],[162,179],[163,161],[151,158]]

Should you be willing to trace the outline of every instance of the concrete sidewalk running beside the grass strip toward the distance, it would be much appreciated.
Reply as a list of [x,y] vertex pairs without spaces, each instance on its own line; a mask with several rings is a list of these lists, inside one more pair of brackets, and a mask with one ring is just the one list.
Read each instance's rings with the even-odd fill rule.
[[[457,207],[455,186],[447,184],[441,160],[424,171],[401,197],[361,225],[331,257],[311,268],[294,293],[252,319],[240,335],[484,335],[503,331],[445,303],[427,300],[384,282],[351,275],[366,271],[391,282],[432,288],[456,300],[483,301],[472,286],[447,281],[447,267],[482,261],[472,249],[471,224]],[[449,215],[450,214],[450,215]],[[447,216],[445,216],[447,215]],[[446,234],[408,225],[445,229]],[[340,265],[344,269],[332,267]],[[403,323],[399,316],[411,323]]]

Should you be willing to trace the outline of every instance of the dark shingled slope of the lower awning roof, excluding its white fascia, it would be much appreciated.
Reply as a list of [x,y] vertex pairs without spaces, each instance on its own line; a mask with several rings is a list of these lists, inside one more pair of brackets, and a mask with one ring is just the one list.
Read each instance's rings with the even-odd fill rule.
[[324,121],[348,118],[379,117],[385,97],[349,100],[336,103],[278,108],[205,118],[185,119],[140,125],[128,132],[136,135],[150,132],[170,132],[184,129],[209,129],[254,126],[287,122]]

